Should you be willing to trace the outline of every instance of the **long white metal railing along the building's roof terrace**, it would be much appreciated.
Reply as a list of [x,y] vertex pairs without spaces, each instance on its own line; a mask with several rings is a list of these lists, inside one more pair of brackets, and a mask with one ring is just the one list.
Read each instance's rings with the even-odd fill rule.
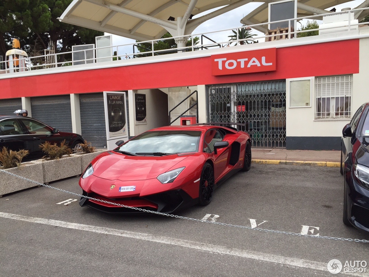
[[[297,17],[297,18],[292,18],[289,20],[279,20],[279,21],[271,21],[268,23],[260,23],[260,24],[253,24],[253,25],[248,25],[248,26],[242,26],[242,27],[235,27],[235,28],[228,28],[228,29],[223,29],[223,30],[218,30],[218,31],[211,31],[211,32],[206,32],[206,33],[200,33],[200,34],[191,34],[191,35],[186,35],[185,37],[187,37],[187,39],[189,39],[191,41],[191,45],[187,46],[187,47],[177,47],[177,48],[173,48],[173,49],[163,49],[163,50],[155,50],[154,45],[158,42],[158,41],[165,41],[165,40],[173,40],[175,38],[182,38],[183,36],[177,36],[177,37],[170,37],[170,38],[162,38],[162,39],[158,39],[158,40],[149,40],[149,41],[142,41],[139,42],[139,44],[151,44],[151,49],[150,48],[145,48],[143,49],[141,45],[137,45],[137,42],[135,43],[130,43],[130,44],[121,44],[121,45],[116,45],[116,46],[107,46],[107,47],[100,47],[100,48],[91,48],[91,49],[84,49],[84,50],[77,50],[77,51],[69,51],[69,52],[63,52],[63,53],[56,53],[56,54],[45,54],[42,56],[36,56],[36,57],[27,57],[27,58],[23,58],[24,60],[24,64],[25,64],[25,69],[26,71],[32,71],[35,69],[44,69],[44,68],[52,68],[52,67],[61,67],[61,66],[70,66],[72,65],[72,55],[76,52],[84,52],[84,57],[87,57],[86,52],[87,51],[97,51],[97,49],[105,49],[105,48],[112,48],[111,52],[112,53],[117,53],[116,55],[111,55],[108,57],[94,57],[94,58],[84,58],[84,59],[80,59],[80,60],[73,60],[73,62],[81,62],[82,64],[90,64],[90,63],[94,63],[94,62],[99,62],[99,59],[106,59],[106,58],[110,58],[111,62],[117,62],[119,60],[118,57],[120,57],[121,59],[130,59],[130,58],[139,58],[139,57],[147,57],[147,56],[158,56],[158,55],[162,55],[162,54],[169,54],[169,53],[176,53],[176,52],[187,52],[187,51],[197,51],[197,50],[206,50],[210,47],[224,47],[224,45],[230,45],[231,43],[236,42],[236,45],[240,45],[242,44],[242,41],[245,41],[244,38],[239,38],[239,30],[242,30],[244,28],[254,28],[255,30],[262,27],[262,28],[268,28],[269,24],[273,24],[273,23],[284,23],[284,22],[288,22],[289,25],[289,32],[288,33],[284,33],[283,35],[288,35],[288,37],[290,39],[296,39],[297,35],[300,33],[306,33],[306,32],[313,32],[313,31],[322,31],[322,30],[334,30],[337,28],[345,28],[345,31],[347,35],[350,34],[351,28],[353,26],[358,26],[358,25],[369,25],[369,22],[364,22],[364,23],[354,23],[355,21],[353,21],[351,19],[351,14],[352,13],[359,13],[365,10],[369,10],[369,8],[359,8],[359,9],[355,9],[355,10],[348,10],[348,11],[340,11],[340,12],[327,12],[326,14],[317,14],[314,16],[306,16],[306,17]],[[317,29],[311,29],[311,30],[294,30],[291,29],[292,26],[294,26],[295,21],[301,21],[301,20],[306,20],[306,19],[310,19],[310,20],[321,20],[324,16],[332,16],[335,14],[346,14],[347,15],[347,20],[342,21],[342,22],[337,22],[334,27],[319,27]],[[215,36],[215,35],[222,35],[222,37],[224,38],[228,38],[228,35],[230,34],[229,31],[232,30],[236,30],[236,39],[235,40],[223,40],[223,41],[217,41],[215,42],[215,40],[211,39],[211,36]],[[224,34],[228,32],[227,34]],[[222,34],[223,33],[223,34]],[[261,32],[260,32],[261,33]],[[195,44],[194,43],[194,38],[196,36],[200,36],[201,37],[201,43],[200,44]],[[272,35],[265,35],[265,34],[261,34],[261,35],[256,35],[254,37],[252,37],[252,40],[258,41],[258,42],[265,42],[265,38],[269,38],[269,37],[273,37],[276,36],[276,34],[272,34]],[[208,41],[204,42],[203,38],[207,38]],[[119,54],[120,52],[123,53],[125,51],[120,51],[121,49],[126,49],[127,47],[133,47],[133,51],[132,53],[128,53],[127,52],[125,54]],[[140,52],[138,51],[138,49],[141,49]],[[61,61],[61,57],[70,57],[67,60],[63,60]],[[113,60],[113,58],[116,58],[116,61]],[[22,59],[19,59],[20,61]],[[50,61],[50,62],[48,62]],[[8,66],[8,62],[9,61],[0,61],[0,74],[1,73],[12,73],[12,72],[16,72],[18,71],[16,68],[14,70],[10,70],[9,66]],[[120,61],[122,62],[122,61]],[[124,61],[123,61],[124,62]],[[12,72],[11,72],[12,71]]]

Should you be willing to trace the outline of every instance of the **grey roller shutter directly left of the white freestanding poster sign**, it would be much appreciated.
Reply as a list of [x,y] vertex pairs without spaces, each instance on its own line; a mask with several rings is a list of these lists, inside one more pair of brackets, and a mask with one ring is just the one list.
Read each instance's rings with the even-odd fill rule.
[[95,147],[106,147],[103,93],[79,95],[82,136]]

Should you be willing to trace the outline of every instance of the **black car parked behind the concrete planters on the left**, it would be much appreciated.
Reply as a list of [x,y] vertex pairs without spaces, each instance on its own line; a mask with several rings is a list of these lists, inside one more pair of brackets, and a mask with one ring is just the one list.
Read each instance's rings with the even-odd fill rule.
[[59,132],[59,130],[25,116],[0,116],[0,150],[5,146],[8,150],[29,150],[23,161],[37,160],[45,156],[39,145],[45,141],[60,144],[65,140],[72,149],[78,148],[84,139],[75,133]]

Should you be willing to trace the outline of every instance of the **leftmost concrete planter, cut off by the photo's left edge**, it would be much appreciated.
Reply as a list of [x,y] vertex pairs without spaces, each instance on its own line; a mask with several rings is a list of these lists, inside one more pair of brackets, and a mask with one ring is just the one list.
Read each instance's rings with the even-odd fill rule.
[[[7,168],[4,170],[41,184],[44,183],[42,163],[39,162],[22,163],[20,167]],[[37,187],[37,184],[0,171],[0,196],[31,187]]]

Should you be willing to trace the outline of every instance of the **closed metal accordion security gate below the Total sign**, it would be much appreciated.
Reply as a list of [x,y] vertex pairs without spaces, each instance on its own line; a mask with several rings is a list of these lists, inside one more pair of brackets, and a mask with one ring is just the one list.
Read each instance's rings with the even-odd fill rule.
[[254,148],[286,148],[286,82],[207,86],[209,122],[244,123]]

